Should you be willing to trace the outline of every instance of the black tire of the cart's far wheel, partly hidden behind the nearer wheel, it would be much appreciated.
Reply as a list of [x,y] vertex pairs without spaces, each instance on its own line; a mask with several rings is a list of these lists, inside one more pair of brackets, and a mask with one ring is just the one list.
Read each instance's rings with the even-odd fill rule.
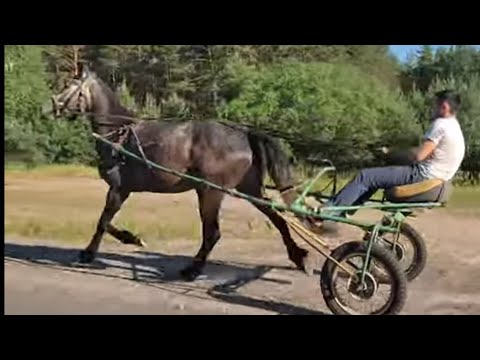
[[[408,223],[402,223],[400,234],[411,243],[414,254],[411,262],[403,266],[403,271],[408,281],[415,280],[425,269],[427,264],[428,251],[423,236]],[[390,234],[393,235],[393,234]],[[381,237],[381,236],[380,236]],[[392,250],[394,256],[395,252]],[[397,258],[398,260],[398,258]]]

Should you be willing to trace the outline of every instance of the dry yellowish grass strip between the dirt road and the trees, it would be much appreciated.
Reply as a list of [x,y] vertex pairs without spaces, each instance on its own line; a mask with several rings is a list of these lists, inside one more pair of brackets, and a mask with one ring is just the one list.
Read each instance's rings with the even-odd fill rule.
[[[5,234],[85,244],[95,231],[106,192],[106,184],[93,168],[9,165],[5,168]],[[480,187],[457,187],[445,211],[476,216],[479,205]],[[256,210],[250,213],[248,206],[222,213],[223,234],[243,239],[273,236],[275,230],[259,220]],[[201,233],[196,198],[191,194],[133,194],[114,223],[147,242],[199,241]]]

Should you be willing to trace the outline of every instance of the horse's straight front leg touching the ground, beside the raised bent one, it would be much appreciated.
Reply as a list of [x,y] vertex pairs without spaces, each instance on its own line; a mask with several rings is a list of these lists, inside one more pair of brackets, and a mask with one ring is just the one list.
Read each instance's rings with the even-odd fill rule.
[[110,222],[115,214],[120,210],[122,204],[125,202],[125,200],[127,200],[129,195],[130,192],[128,191],[110,188],[107,194],[105,208],[103,209],[102,215],[100,216],[100,220],[97,224],[97,230],[95,231],[95,234],[93,235],[93,238],[88,244],[87,248],[80,253],[79,260],[81,263],[90,263],[95,259],[105,231],[107,231],[108,227],[111,226]]

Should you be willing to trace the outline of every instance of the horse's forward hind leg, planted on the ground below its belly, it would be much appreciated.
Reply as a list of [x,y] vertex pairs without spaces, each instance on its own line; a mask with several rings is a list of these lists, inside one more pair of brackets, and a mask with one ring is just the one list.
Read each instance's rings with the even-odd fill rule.
[[188,281],[194,281],[202,273],[208,256],[221,237],[218,216],[224,194],[216,190],[198,190],[197,195],[202,219],[202,246],[192,264],[180,271]]

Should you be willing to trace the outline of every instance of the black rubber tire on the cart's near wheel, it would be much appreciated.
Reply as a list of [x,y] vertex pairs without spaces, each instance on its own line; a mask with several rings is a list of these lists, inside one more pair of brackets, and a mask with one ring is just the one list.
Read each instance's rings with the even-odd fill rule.
[[[367,243],[365,242],[351,242],[343,244],[335,249],[331,257],[339,263],[352,255],[365,256],[367,253]],[[368,315],[396,315],[399,314],[407,300],[407,278],[403,272],[400,264],[395,259],[393,254],[378,245],[374,245],[370,252],[371,258],[376,263],[382,263],[390,274],[392,286],[392,299],[386,306],[376,312]],[[320,288],[326,305],[334,315],[351,315],[352,313],[345,310],[343,306],[338,303],[336,296],[336,289],[334,286],[335,273],[338,266],[330,259],[327,259],[320,278]]]

